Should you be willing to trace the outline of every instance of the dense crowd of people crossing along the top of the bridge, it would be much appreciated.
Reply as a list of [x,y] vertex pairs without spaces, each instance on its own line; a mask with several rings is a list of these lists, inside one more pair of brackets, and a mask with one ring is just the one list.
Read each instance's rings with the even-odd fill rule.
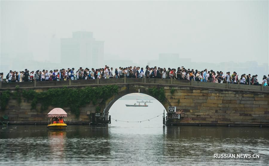
[[[269,84],[269,75],[268,77],[264,75],[261,81],[258,81],[258,75],[238,75],[236,72],[231,74],[226,72],[224,74],[222,71],[213,71],[213,70],[194,70],[187,69],[184,66],[174,68],[160,68],[160,67],[149,67],[140,68],[140,67],[119,67],[116,69],[105,66],[100,69],[79,69],[75,70],[74,68],[70,69],[55,69],[55,70],[37,70],[36,72],[25,69],[25,71],[16,72],[10,70],[6,75],[6,82],[27,82],[27,81],[60,81],[60,80],[87,80],[87,79],[109,79],[109,78],[159,78],[159,79],[178,79],[178,80],[194,80],[201,82],[213,82],[213,83],[233,83],[233,84],[246,84],[246,85],[260,85],[268,86]],[[4,81],[3,73],[0,73],[0,81]]]

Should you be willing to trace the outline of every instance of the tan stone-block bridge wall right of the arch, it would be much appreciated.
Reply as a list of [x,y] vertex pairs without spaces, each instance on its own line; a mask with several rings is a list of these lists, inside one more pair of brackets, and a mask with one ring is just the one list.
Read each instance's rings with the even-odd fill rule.
[[[165,87],[181,123],[269,123],[269,94]],[[179,122],[179,120],[172,120]]]

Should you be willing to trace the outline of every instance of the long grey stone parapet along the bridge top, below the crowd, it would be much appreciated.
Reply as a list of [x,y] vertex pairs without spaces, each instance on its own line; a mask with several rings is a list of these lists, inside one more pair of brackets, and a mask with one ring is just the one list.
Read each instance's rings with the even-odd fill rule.
[[94,84],[117,84],[117,83],[151,83],[151,84],[173,84],[184,86],[200,86],[221,89],[243,89],[254,91],[269,91],[268,86],[254,86],[228,83],[209,83],[200,81],[175,80],[175,79],[155,79],[155,78],[110,78],[110,79],[90,79],[90,80],[68,80],[68,81],[33,81],[33,82],[0,82],[0,88],[19,87],[42,87],[42,86],[70,86],[70,85],[94,85]]

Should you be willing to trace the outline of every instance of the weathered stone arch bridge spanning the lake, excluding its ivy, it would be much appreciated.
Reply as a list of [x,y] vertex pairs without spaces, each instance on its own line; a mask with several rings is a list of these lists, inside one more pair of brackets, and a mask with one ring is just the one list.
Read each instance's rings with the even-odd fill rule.
[[[163,104],[166,111],[168,106],[176,106],[176,114],[181,114],[181,119],[172,119],[172,114],[168,114],[168,117],[171,118],[170,124],[269,126],[269,87],[263,86],[172,79],[118,78],[0,83],[0,92],[14,91],[16,86],[19,86],[19,89],[46,91],[63,86],[82,88],[111,84],[118,86],[118,93],[95,106],[88,103],[80,109],[78,118],[71,114],[69,107],[63,108],[68,113],[67,121],[69,123],[89,123],[93,120],[91,115],[95,114],[97,106],[103,111],[107,120],[109,108],[115,101],[126,94],[138,93],[139,91],[155,97]],[[150,89],[154,88],[163,89],[159,92],[164,95],[162,100],[151,92]],[[1,117],[7,115],[10,123],[45,123],[47,122],[46,114],[49,110],[40,112],[39,108],[39,104],[37,104],[36,109],[31,109],[31,103],[26,100],[19,103],[16,99],[10,99],[6,109],[0,111],[0,115]],[[52,109],[52,107],[49,107],[49,109]]]

